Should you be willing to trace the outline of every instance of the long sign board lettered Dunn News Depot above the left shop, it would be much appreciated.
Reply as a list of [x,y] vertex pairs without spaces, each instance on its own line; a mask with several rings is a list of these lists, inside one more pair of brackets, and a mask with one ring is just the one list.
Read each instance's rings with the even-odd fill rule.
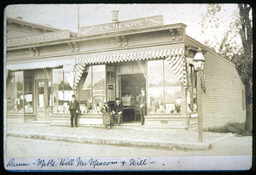
[[44,33],[41,35],[32,35],[26,37],[15,37],[7,39],[7,46],[15,46],[26,43],[36,43],[36,42],[49,42],[59,39],[65,39],[70,37],[70,31],[54,31],[49,33]]

